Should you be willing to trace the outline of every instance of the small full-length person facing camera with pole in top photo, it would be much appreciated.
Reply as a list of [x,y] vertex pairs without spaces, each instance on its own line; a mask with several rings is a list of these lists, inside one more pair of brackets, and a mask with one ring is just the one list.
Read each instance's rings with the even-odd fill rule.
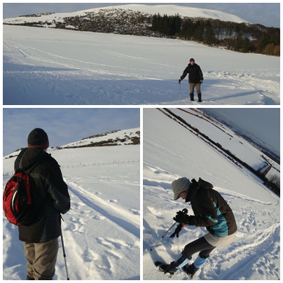
[[188,74],[188,83],[190,85],[190,97],[191,101],[194,101],[194,89],[196,88],[198,93],[198,102],[202,102],[202,93],[200,91],[200,85],[203,81],[203,75],[202,70],[200,69],[200,66],[195,63],[195,60],[193,58],[190,59],[190,63],[184,70],[183,74],[181,75],[181,78],[179,78],[179,83],[186,78],[186,75]]

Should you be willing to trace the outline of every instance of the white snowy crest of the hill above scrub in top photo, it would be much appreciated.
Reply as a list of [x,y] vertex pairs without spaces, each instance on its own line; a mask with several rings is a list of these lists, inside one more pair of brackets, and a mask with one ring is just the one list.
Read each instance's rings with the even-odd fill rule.
[[[125,11],[139,11],[141,13],[147,13],[149,15],[154,15],[160,13],[160,15],[175,15],[179,13],[179,15],[183,17],[189,18],[212,18],[223,20],[226,22],[247,22],[236,15],[231,15],[228,13],[223,13],[220,11],[202,9],[202,8],[191,8],[191,7],[184,7],[184,6],[177,6],[177,5],[142,5],[142,4],[130,4],[130,5],[121,5],[121,6],[108,6],[102,8],[93,8],[84,11],[78,11],[73,13],[47,13],[46,15],[40,14],[36,17],[34,15],[31,16],[22,16],[17,18],[7,18],[4,19],[5,23],[9,24],[20,24],[23,22],[34,22],[34,21],[41,21],[41,22],[54,22],[58,19],[66,18],[66,17],[76,17],[78,15],[85,15],[85,13],[95,13],[97,11],[105,10],[113,10],[113,9],[122,9]],[[48,12],[48,11],[46,11]]]

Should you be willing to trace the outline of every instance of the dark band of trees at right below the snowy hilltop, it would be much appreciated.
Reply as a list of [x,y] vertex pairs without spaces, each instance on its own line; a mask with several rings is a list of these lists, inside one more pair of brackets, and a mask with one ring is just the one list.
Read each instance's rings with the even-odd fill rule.
[[221,20],[153,15],[152,31],[166,37],[198,41],[208,46],[223,46],[242,53],[280,56],[280,29]]

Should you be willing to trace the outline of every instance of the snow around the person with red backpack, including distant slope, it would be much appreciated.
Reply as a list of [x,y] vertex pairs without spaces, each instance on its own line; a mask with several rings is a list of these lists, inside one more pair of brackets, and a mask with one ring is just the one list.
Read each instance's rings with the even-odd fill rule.
[[[136,136],[138,131],[118,131],[115,137]],[[88,140],[90,144],[95,138]],[[123,142],[120,146],[63,147],[48,152],[61,165],[71,195],[71,210],[64,214],[62,223],[70,279],[139,279],[139,145]],[[13,172],[14,161],[15,157],[4,158],[4,173]],[[4,176],[3,186],[10,177]],[[3,235],[3,279],[25,279],[26,261],[18,228],[5,218]],[[54,279],[66,279],[61,242]]]

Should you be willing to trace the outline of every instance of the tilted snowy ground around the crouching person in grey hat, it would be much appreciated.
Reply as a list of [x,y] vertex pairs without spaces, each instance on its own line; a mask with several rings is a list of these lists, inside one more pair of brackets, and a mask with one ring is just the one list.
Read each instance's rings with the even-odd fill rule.
[[[223,148],[241,154],[250,165],[263,165],[258,149],[201,111],[170,110]],[[172,230],[150,251],[172,226],[176,212],[186,207],[192,214],[184,200],[173,200],[170,185],[179,177],[200,177],[212,183],[233,209],[237,221],[235,242],[214,250],[195,279],[280,279],[279,197],[254,174],[202,139],[198,131],[177,121],[163,110],[144,109],[144,279],[188,279],[180,271],[172,277],[158,272],[153,261],[174,261],[188,242],[206,233],[205,228],[190,226],[181,231],[179,238],[171,239]]]

